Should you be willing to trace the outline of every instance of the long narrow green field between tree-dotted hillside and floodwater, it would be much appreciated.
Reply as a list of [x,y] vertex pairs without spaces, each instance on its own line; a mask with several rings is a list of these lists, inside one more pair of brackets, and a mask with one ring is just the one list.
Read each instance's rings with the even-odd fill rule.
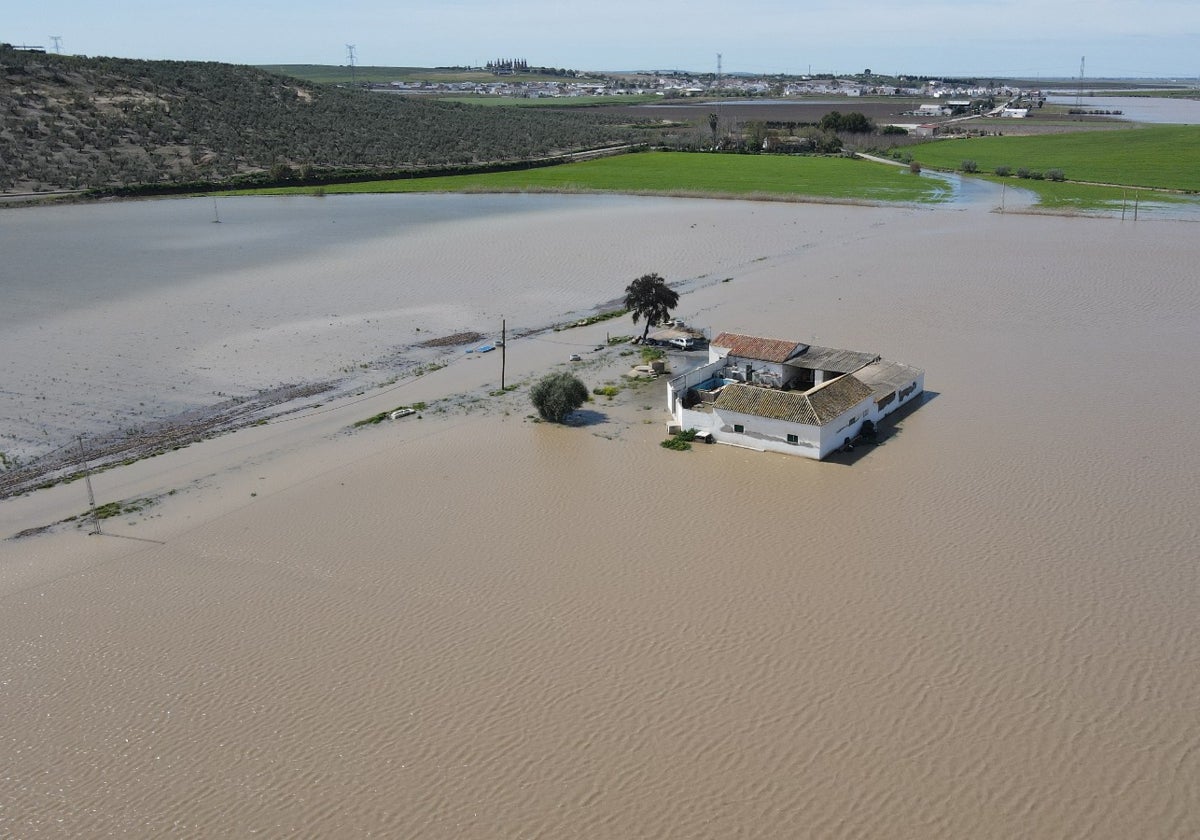
[[[938,202],[944,188],[900,167],[844,157],[706,155],[650,151],[581,163],[450,178],[336,184],[353,192],[620,192],[678,196],[811,197],[865,202]],[[312,193],[313,187],[245,191]]]

